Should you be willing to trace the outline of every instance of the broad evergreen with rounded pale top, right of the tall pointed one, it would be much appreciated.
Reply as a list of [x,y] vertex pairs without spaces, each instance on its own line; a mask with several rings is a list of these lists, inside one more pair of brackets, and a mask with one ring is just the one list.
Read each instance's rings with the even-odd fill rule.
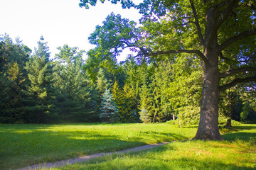
[[90,105],[90,83],[82,70],[82,53],[77,47],[58,47],[55,59],[55,113],[59,121],[96,120]]

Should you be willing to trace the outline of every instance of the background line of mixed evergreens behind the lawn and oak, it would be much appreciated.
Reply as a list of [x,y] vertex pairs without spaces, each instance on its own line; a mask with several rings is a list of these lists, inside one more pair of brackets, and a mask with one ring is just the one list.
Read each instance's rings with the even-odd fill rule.
[[[41,37],[32,53],[18,38],[1,35],[1,123],[199,122],[203,67],[195,55],[145,61],[129,55],[118,63],[98,49],[86,60],[78,47],[58,50],[51,56]],[[223,116],[256,120],[255,93],[247,87],[222,95]]]

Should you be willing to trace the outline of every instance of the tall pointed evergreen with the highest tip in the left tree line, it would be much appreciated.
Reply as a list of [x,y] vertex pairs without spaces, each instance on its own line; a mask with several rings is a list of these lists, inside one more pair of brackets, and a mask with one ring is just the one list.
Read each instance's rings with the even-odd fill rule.
[[43,123],[50,120],[50,108],[53,101],[53,69],[50,64],[50,52],[47,42],[43,37],[38,42],[38,49],[31,60],[26,63],[28,84],[26,111],[28,118],[33,123]]

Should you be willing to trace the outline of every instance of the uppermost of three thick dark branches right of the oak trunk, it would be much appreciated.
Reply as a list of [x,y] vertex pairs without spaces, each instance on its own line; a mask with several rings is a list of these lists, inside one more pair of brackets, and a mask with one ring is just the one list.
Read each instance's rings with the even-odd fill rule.
[[236,42],[238,40],[242,40],[243,38],[247,38],[251,35],[256,35],[256,28],[252,28],[252,30],[247,30],[243,33],[240,33],[232,38],[229,38],[228,40],[226,40],[225,42],[223,42],[221,45],[219,45],[219,50],[223,50],[225,47],[228,47],[229,45],[231,45],[233,42]]

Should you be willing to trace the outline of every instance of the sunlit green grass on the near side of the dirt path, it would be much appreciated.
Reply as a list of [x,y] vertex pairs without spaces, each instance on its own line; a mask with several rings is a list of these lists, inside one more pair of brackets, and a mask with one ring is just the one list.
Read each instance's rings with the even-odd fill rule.
[[[173,142],[149,151],[116,154],[52,170],[256,169],[256,127],[223,135],[225,141]],[[238,129],[238,128],[237,128]]]

